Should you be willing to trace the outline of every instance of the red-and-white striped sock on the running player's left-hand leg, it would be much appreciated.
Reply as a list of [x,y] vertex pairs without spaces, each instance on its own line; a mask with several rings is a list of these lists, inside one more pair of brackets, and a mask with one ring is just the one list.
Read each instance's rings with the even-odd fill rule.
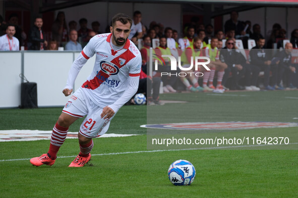
[[61,127],[58,123],[55,124],[51,135],[51,143],[47,152],[52,160],[56,159],[57,152],[66,139],[67,132],[68,128]]

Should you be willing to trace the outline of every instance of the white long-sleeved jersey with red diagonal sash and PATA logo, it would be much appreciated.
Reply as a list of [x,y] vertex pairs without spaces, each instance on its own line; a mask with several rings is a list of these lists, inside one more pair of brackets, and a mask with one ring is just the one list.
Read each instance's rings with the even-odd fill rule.
[[[114,51],[111,36],[99,34],[89,41],[73,63],[66,88],[73,87],[78,70],[95,54],[93,71],[81,89],[99,107],[109,106],[116,112],[138,89],[142,57],[129,39],[122,49]],[[121,101],[121,97],[125,100]]]

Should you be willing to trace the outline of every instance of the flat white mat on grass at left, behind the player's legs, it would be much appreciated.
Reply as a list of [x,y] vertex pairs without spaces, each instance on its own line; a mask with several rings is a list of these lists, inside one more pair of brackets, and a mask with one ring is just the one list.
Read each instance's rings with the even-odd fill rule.
[[[33,141],[33,140],[50,140],[52,131],[39,131],[39,130],[4,130],[0,131],[0,142],[8,141]],[[103,134],[102,138],[109,137],[127,137],[136,136],[136,134]],[[67,139],[77,139],[78,132],[68,132]]]

